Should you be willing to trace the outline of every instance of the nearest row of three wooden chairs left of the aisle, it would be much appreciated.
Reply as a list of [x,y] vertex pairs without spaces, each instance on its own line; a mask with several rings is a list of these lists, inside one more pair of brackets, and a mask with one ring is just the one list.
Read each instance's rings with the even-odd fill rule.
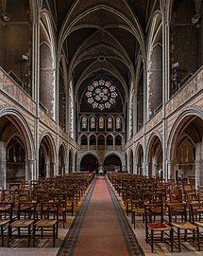
[[0,215],[2,246],[6,239],[9,247],[14,239],[26,237],[27,246],[30,247],[33,241],[35,247],[37,237],[45,236],[53,239],[55,247],[59,229],[58,202],[42,202],[39,210],[36,202],[18,202],[17,210],[14,210],[14,202],[1,201]]

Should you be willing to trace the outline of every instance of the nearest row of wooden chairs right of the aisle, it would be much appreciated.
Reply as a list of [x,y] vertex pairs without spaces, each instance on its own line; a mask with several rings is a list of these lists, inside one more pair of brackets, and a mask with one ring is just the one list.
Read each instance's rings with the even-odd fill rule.
[[[174,244],[181,251],[181,241],[192,241],[201,250],[203,240],[203,203],[190,203],[188,212],[186,203],[145,203],[145,240],[154,252],[155,242]],[[159,218],[158,218],[159,216]]]

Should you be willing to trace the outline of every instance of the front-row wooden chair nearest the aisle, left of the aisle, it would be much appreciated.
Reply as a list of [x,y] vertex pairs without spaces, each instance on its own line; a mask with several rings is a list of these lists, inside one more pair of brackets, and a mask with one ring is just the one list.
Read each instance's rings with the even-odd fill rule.
[[36,227],[35,240],[38,235],[41,238],[51,237],[53,239],[53,247],[55,247],[59,229],[59,202],[41,202],[40,207],[41,219],[34,225]]

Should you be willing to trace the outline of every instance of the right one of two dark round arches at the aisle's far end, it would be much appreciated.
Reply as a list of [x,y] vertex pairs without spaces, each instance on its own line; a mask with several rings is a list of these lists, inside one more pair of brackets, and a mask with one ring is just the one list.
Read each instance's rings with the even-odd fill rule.
[[107,172],[121,172],[122,163],[118,155],[108,155],[104,160],[104,170]]

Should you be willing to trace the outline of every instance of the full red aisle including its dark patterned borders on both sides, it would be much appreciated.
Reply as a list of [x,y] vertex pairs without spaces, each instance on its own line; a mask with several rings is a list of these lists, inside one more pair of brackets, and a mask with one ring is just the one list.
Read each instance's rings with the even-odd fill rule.
[[144,255],[106,177],[94,179],[59,249],[64,255]]

